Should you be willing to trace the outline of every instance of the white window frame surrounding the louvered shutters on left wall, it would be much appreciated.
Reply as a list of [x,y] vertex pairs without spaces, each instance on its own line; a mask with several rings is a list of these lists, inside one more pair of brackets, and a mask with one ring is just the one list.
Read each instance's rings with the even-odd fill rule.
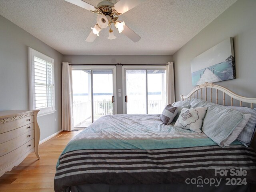
[[[42,54],[30,47],[28,47],[28,90],[29,90],[29,108],[30,110],[36,110],[35,102],[35,83],[34,83],[34,58],[38,57],[41,60],[52,64],[52,106],[46,108],[39,108],[38,116],[54,113],[55,110],[55,81],[54,81],[54,59]],[[47,98],[48,99],[48,98]]]

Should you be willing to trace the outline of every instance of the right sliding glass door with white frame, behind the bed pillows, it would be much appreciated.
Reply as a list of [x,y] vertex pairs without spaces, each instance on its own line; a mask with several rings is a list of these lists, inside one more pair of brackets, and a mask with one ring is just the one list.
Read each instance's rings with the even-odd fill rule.
[[166,66],[124,66],[123,112],[161,114],[166,103]]

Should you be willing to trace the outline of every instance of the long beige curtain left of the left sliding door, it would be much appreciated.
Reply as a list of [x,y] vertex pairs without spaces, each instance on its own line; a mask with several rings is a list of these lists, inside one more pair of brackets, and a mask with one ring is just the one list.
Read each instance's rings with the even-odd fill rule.
[[73,93],[71,65],[62,62],[62,104],[61,130],[72,131],[73,127]]

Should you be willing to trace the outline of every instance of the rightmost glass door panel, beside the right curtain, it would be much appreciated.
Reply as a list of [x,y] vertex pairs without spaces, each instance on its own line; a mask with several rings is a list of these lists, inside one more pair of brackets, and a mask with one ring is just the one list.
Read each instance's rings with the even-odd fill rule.
[[148,114],[161,114],[166,102],[166,70],[147,70]]

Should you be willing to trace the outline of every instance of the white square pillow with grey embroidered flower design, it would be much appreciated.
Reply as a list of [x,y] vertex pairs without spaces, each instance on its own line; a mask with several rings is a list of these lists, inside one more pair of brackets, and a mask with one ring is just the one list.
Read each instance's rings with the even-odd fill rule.
[[183,108],[174,126],[202,132],[202,123],[208,107]]

